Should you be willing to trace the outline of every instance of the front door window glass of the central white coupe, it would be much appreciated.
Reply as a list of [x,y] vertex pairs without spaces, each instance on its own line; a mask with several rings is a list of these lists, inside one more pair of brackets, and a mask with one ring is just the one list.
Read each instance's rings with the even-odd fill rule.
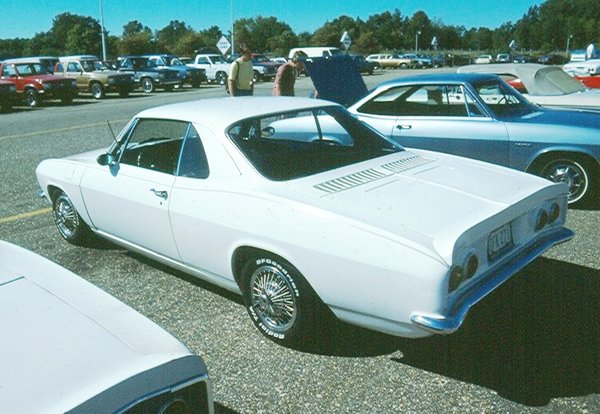
[[165,174],[175,174],[188,123],[166,119],[140,119],[132,127],[120,162]]

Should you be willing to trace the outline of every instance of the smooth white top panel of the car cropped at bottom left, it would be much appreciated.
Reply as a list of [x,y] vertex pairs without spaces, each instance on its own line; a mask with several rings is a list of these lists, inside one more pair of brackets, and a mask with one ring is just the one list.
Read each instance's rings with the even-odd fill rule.
[[0,315],[5,412],[65,412],[134,375],[193,355],[92,284],[1,241]]

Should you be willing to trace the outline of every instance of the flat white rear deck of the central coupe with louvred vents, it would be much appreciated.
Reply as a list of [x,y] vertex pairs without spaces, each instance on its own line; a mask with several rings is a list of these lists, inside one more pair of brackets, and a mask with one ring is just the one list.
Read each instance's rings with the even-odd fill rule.
[[416,243],[446,263],[456,240],[470,228],[493,217],[481,228],[492,231],[566,192],[566,186],[530,174],[427,151],[360,165],[360,170],[342,168],[290,185],[313,196],[318,207],[383,237]]

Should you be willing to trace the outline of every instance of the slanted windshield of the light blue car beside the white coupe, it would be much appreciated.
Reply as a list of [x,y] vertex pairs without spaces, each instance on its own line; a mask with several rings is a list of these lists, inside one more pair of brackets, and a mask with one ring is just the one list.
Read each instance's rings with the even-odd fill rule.
[[498,116],[524,115],[536,110],[531,102],[504,81],[488,80],[472,86],[479,98]]

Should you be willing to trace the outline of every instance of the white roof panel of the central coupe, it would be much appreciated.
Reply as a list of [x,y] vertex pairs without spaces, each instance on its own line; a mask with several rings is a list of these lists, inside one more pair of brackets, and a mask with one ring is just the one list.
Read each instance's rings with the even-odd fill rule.
[[199,99],[146,109],[140,118],[166,118],[195,122],[222,130],[241,120],[285,111],[337,105],[319,99],[298,97],[223,97]]

